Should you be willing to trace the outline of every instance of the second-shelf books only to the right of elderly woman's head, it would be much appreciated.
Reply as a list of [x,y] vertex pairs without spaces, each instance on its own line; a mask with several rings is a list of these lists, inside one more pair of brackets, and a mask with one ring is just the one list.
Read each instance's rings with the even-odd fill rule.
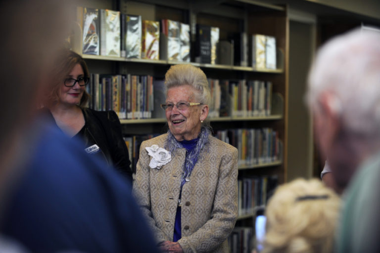
[[272,82],[218,79],[208,79],[208,82],[211,92],[209,117],[271,115]]

